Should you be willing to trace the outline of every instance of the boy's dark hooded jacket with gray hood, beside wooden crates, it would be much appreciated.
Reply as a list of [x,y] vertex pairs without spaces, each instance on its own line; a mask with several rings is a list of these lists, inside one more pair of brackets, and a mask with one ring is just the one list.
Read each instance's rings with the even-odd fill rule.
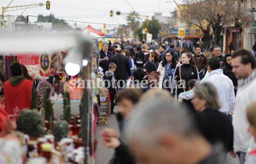
[[103,80],[109,80],[110,86],[108,86],[108,82],[105,82],[105,87],[109,90],[110,95],[115,95],[117,93],[117,86],[116,86],[116,78],[115,74],[112,71],[106,71],[105,75],[102,77]]

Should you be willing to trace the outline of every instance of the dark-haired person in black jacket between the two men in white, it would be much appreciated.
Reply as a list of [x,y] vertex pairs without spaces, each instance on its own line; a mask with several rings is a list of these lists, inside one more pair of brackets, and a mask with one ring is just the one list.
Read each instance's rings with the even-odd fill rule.
[[233,68],[232,67],[232,59],[233,58],[232,58],[231,54],[225,55],[224,62],[226,63],[226,65],[222,68],[222,70],[223,70],[223,74],[232,80],[234,90],[235,90],[235,95],[236,95],[236,93],[237,93],[237,78],[236,78],[235,74],[232,72],[232,68]]

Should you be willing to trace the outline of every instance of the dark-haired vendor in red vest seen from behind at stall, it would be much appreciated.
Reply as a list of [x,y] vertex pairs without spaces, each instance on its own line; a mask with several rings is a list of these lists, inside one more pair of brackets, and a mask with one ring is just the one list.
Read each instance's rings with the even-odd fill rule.
[[33,81],[22,76],[20,63],[12,63],[10,71],[12,77],[4,83],[4,105],[9,117],[17,121],[22,109],[30,109]]

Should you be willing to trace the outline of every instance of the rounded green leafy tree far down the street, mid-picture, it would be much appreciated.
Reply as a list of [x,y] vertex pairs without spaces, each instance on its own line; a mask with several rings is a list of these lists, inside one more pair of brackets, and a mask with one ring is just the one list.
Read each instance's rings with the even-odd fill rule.
[[[146,23],[147,21],[144,21],[145,27],[146,27]],[[146,28],[147,28],[147,32],[153,35],[152,39],[157,39],[159,30],[161,30],[160,23],[158,22],[158,20],[152,17],[151,20],[148,20],[148,26]],[[137,34],[140,40],[143,39],[142,29],[143,29],[142,27],[137,29]],[[146,39],[146,35],[145,35],[145,39]]]

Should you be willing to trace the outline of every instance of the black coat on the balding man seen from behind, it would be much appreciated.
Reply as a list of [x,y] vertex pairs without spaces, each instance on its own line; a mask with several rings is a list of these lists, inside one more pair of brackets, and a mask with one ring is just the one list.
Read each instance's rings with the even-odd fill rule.
[[118,53],[112,57],[111,62],[116,64],[116,70],[114,73],[117,80],[126,80],[128,79],[128,76],[131,76],[131,68],[127,56]]

